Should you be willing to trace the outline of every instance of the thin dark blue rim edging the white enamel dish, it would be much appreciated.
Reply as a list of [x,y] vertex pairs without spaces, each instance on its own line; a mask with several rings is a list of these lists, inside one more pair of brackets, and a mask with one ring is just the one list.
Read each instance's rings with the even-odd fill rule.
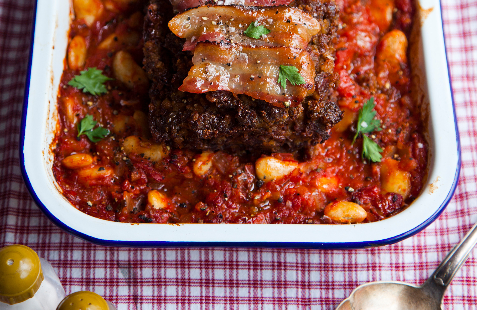
[[[441,9],[441,25],[442,31],[444,33],[444,21],[442,20],[442,3],[440,3]],[[61,228],[62,230],[66,231],[67,233],[83,239],[87,242],[91,242],[93,244],[97,244],[100,246],[108,246],[108,247],[127,247],[127,248],[180,248],[180,247],[247,247],[247,248],[320,248],[320,249],[359,249],[359,248],[371,248],[371,247],[379,247],[384,245],[393,244],[409,238],[425,227],[429,226],[432,222],[434,222],[437,217],[444,211],[447,204],[452,199],[454,192],[456,190],[456,186],[459,180],[460,175],[460,167],[461,167],[461,154],[460,154],[460,138],[459,138],[459,130],[457,127],[457,118],[456,118],[456,108],[454,104],[454,91],[452,89],[451,83],[451,76],[450,76],[450,67],[449,67],[449,60],[446,54],[446,64],[447,64],[447,75],[449,81],[449,87],[451,91],[451,100],[452,100],[452,110],[454,113],[454,127],[456,129],[456,142],[457,142],[457,166],[456,166],[456,174],[454,177],[454,181],[452,183],[451,189],[446,196],[446,199],[443,201],[441,206],[436,210],[436,212],[426,219],[423,223],[418,225],[417,227],[408,230],[400,235],[394,236],[392,238],[387,238],[383,240],[376,240],[376,241],[362,241],[362,242],[187,242],[187,241],[121,241],[121,240],[106,240],[100,238],[94,238],[87,234],[84,234],[78,230],[75,230],[67,225],[65,225],[62,221],[60,221],[57,217],[55,217],[48,208],[43,205],[40,198],[36,195],[33,186],[31,186],[30,179],[28,178],[28,174],[25,169],[25,156],[23,154],[23,145],[25,142],[25,126],[26,126],[26,117],[27,117],[27,107],[28,107],[28,95],[30,90],[30,78],[31,78],[31,62],[33,58],[33,41],[35,36],[35,23],[36,23],[36,10],[37,10],[37,1],[35,1],[33,10],[33,22],[31,27],[31,39],[30,39],[30,54],[28,60],[28,69],[26,74],[26,81],[25,81],[25,90],[23,95],[23,108],[21,112],[21,127],[20,127],[20,167],[21,167],[21,175],[23,176],[23,180],[25,182],[28,191],[30,192],[31,197],[35,201],[36,205],[40,208],[40,210],[48,217],[53,224]],[[444,36],[444,48],[446,49],[446,36]],[[151,224],[145,224],[151,225]],[[299,224],[298,224],[299,225]]]

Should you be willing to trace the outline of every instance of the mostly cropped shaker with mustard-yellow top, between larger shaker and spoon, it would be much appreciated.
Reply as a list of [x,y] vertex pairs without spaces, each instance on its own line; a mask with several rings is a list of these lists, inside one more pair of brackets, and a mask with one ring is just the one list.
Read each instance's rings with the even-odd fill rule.
[[66,296],[56,310],[117,310],[114,305],[96,293],[83,290]]

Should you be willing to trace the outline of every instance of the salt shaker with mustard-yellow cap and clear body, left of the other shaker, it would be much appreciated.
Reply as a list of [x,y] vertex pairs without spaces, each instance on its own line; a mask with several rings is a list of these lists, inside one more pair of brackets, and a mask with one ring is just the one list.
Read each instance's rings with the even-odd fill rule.
[[0,310],[54,310],[64,296],[52,265],[31,248],[0,249]]

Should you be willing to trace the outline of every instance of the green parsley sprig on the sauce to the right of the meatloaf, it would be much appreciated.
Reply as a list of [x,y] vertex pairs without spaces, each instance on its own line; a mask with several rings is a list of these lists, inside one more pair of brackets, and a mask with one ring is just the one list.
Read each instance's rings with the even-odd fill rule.
[[380,131],[380,122],[377,119],[374,119],[376,116],[376,111],[373,111],[374,106],[374,97],[371,97],[366,103],[363,104],[363,108],[359,110],[358,114],[358,124],[356,125],[356,134],[353,138],[353,143],[356,141],[359,133],[363,134],[363,151],[361,156],[363,159],[368,159],[373,162],[380,162],[383,156],[380,154],[383,152],[383,149],[373,140],[371,140],[367,133],[373,131]]

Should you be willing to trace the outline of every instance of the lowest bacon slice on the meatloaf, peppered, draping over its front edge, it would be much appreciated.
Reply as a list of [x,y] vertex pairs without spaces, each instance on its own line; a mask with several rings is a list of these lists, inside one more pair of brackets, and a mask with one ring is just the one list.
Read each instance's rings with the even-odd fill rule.
[[[311,56],[295,48],[200,42],[192,61],[194,65],[179,87],[182,92],[225,90],[284,107],[298,105],[314,88],[315,65]],[[293,86],[287,82],[286,90],[281,88],[280,65],[295,66],[306,83]]]

